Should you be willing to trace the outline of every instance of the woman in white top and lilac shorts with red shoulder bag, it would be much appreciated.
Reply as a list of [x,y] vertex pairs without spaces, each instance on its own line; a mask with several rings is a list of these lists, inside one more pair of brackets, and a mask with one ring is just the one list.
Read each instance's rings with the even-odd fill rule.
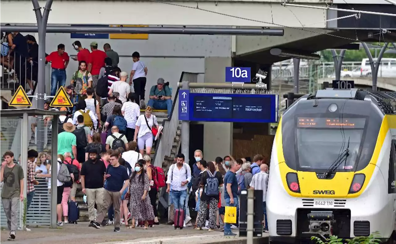
[[139,152],[141,154],[144,153],[144,149],[146,146],[146,154],[150,155],[152,148],[152,127],[155,126],[157,130],[159,129],[157,117],[154,114],[151,114],[152,109],[150,106],[146,108],[145,114],[142,114],[137,118],[136,128],[135,128],[135,136],[133,137],[133,141],[137,141],[137,145],[139,147]]

